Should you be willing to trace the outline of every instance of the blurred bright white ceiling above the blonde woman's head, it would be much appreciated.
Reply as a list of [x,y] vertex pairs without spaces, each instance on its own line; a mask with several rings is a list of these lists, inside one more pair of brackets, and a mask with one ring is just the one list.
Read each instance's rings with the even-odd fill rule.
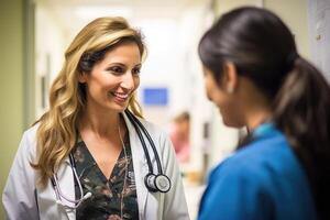
[[98,16],[120,15],[130,22],[152,19],[176,19],[194,6],[207,6],[210,0],[35,0],[50,11],[67,35],[74,35]]

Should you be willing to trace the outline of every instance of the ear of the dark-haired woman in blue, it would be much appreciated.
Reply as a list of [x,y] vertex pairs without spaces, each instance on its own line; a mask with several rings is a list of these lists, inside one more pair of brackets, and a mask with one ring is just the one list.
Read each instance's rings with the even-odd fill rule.
[[226,62],[223,65],[223,78],[222,78],[222,85],[223,89],[228,94],[233,94],[238,88],[238,72],[237,67],[231,62]]

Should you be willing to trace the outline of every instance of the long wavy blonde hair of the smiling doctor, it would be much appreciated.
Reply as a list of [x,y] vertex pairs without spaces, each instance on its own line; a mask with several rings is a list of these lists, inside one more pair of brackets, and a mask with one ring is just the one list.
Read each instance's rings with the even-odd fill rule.
[[[81,58],[87,54],[107,52],[128,41],[138,44],[144,58],[145,45],[139,31],[123,18],[99,18],[86,25],[65,52],[63,68],[51,87],[50,110],[36,121],[38,156],[36,164],[31,165],[40,172],[42,186],[46,186],[76,143],[79,116],[86,105],[85,87],[78,81]],[[135,95],[129,101],[129,109],[142,117]]]

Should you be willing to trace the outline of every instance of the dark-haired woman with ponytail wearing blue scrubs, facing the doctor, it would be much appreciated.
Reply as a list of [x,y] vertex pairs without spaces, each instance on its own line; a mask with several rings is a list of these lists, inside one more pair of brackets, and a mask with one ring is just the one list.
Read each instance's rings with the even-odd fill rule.
[[210,174],[199,220],[330,219],[330,88],[274,13],[239,8],[202,36],[208,98],[248,127]]

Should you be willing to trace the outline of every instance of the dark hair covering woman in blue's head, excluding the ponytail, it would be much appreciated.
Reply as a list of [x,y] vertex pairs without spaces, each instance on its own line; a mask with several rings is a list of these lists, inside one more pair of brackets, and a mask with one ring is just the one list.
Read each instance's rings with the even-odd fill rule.
[[223,16],[204,35],[199,45],[202,64],[217,81],[224,62],[232,62],[240,75],[252,79],[268,97],[274,97],[296,54],[294,36],[272,12],[240,8]]

